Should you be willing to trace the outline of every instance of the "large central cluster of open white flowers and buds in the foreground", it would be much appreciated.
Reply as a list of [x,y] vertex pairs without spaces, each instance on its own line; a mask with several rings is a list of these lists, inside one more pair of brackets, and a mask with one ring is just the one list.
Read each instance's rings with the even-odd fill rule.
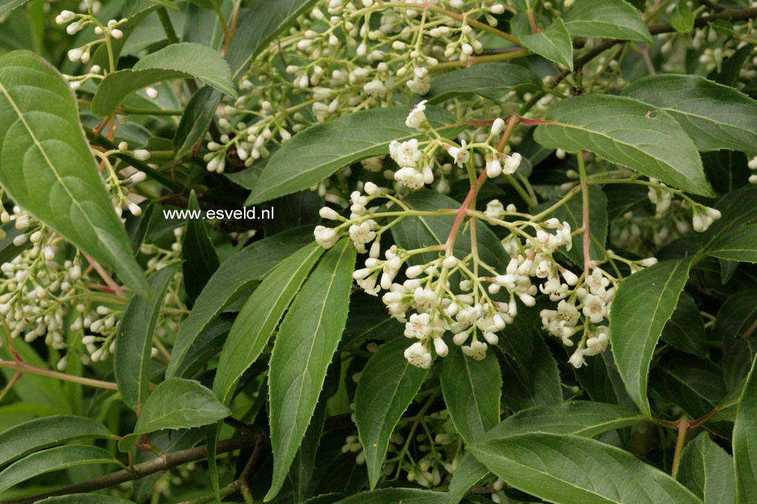
[[[481,181],[503,172],[514,173],[521,161],[518,153],[505,156],[491,146],[491,140],[504,129],[502,119],[492,123],[486,141],[453,144],[434,131],[423,114],[421,103],[410,111],[407,124],[419,128],[427,140],[413,138],[389,146],[391,159],[398,166],[395,190],[366,183],[365,193],[354,191],[350,196],[349,218],[325,207],[322,218],[340,224],[319,225],[314,231],[316,241],[323,247],[329,248],[341,237],[348,237],[358,252],[368,252],[369,257],[353,277],[365,292],[381,295],[391,317],[405,324],[404,336],[410,340],[405,358],[414,366],[428,368],[435,355],[447,355],[451,341],[469,357],[483,359],[490,346],[507,337],[507,326],[518,316],[519,309],[536,305],[537,295],[556,303],[555,309],[540,311],[544,329],[566,346],[576,345],[574,339],[578,338],[570,363],[581,366],[584,356],[605,350],[609,343],[606,319],[620,279],[619,274],[613,277],[600,264],[623,261],[631,271],[639,271],[655,260],[630,261],[608,251],[603,261],[590,261],[585,273],[575,274],[558,255],[572,249],[574,231],[569,222],[517,212],[512,204],[505,208],[497,199],[487,203],[485,212],[459,207],[436,212],[411,209],[400,198],[407,190],[431,183],[432,174],[419,167],[435,162],[437,150],[446,150],[453,162],[465,169],[474,169],[469,161],[482,151],[484,155],[480,157],[489,161],[482,169]],[[501,165],[493,168],[493,160],[500,159]],[[378,202],[388,202],[388,206],[379,207]],[[458,221],[467,216],[472,219],[470,227],[481,221],[503,228],[507,236],[501,240],[500,250],[495,251],[499,264],[490,258],[482,260],[478,246],[457,257],[453,243],[468,239],[458,237],[459,224],[450,228],[450,237],[440,237],[447,238],[446,244],[417,249],[395,244],[382,254],[383,233],[401,225],[404,219],[433,215],[454,215]]]

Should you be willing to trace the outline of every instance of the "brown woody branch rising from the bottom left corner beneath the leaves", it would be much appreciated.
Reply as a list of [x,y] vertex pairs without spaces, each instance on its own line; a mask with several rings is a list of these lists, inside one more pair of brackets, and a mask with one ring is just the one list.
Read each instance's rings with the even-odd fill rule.
[[[229,453],[234,450],[238,450],[243,447],[249,446],[253,441],[257,441],[261,434],[248,434],[239,438],[227,439],[221,441],[216,449],[216,453]],[[164,455],[157,457],[157,459],[150,460],[148,462],[142,462],[142,464],[134,465],[132,469],[123,469],[118,472],[113,472],[109,475],[99,476],[89,481],[83,481],[70,485],[68,487],[60,488],[58,490],[52,490],[51,492],[37,493],[36,495],[23,497],[23,499],[9,500],[2,504],[30,504],[31,502],[37,502],[38,500],[45,499],[51,496],[68,495],[70,493],[87,493],[94,492],[96,490],[102,490],[103,488],[113,487],[117,484],[126,483],[126,481],[133,481],[142,478],[147,475],[151,475],[155,472],[168,471],[178,465],[183,465],[188,462],[195,462],[207,457],[207,446],[189,448],[188,450],[182,450],[174,453],[164,453]]]

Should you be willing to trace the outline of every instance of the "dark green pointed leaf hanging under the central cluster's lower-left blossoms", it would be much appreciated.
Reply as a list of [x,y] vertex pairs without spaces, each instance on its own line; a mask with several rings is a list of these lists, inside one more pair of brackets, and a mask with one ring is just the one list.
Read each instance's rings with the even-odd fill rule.
[[426,370],[413,366],[403,356],[410,343],[403,336],[382,345],[370,358],[357,382],[355,423],[366,456],[371,488],[382,476],[389,437],[413,397]]

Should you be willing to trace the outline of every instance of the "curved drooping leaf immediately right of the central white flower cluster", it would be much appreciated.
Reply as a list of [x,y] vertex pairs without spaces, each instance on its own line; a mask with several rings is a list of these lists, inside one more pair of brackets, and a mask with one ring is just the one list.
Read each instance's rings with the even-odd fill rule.
[[628,394],[651,415],[646,384],[662,329],[689,279],[691,258],[663,261],[634,273],[618,286],[610,308],[612,356]]

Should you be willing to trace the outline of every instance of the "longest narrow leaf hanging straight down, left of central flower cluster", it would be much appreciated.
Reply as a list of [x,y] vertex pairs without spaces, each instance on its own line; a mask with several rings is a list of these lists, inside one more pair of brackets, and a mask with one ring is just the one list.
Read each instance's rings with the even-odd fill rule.
[[326,369],[344,331],[355,250],[341,240],[323,255],[276,335],[269,370],[273,483],[279,493],[313,416]]

